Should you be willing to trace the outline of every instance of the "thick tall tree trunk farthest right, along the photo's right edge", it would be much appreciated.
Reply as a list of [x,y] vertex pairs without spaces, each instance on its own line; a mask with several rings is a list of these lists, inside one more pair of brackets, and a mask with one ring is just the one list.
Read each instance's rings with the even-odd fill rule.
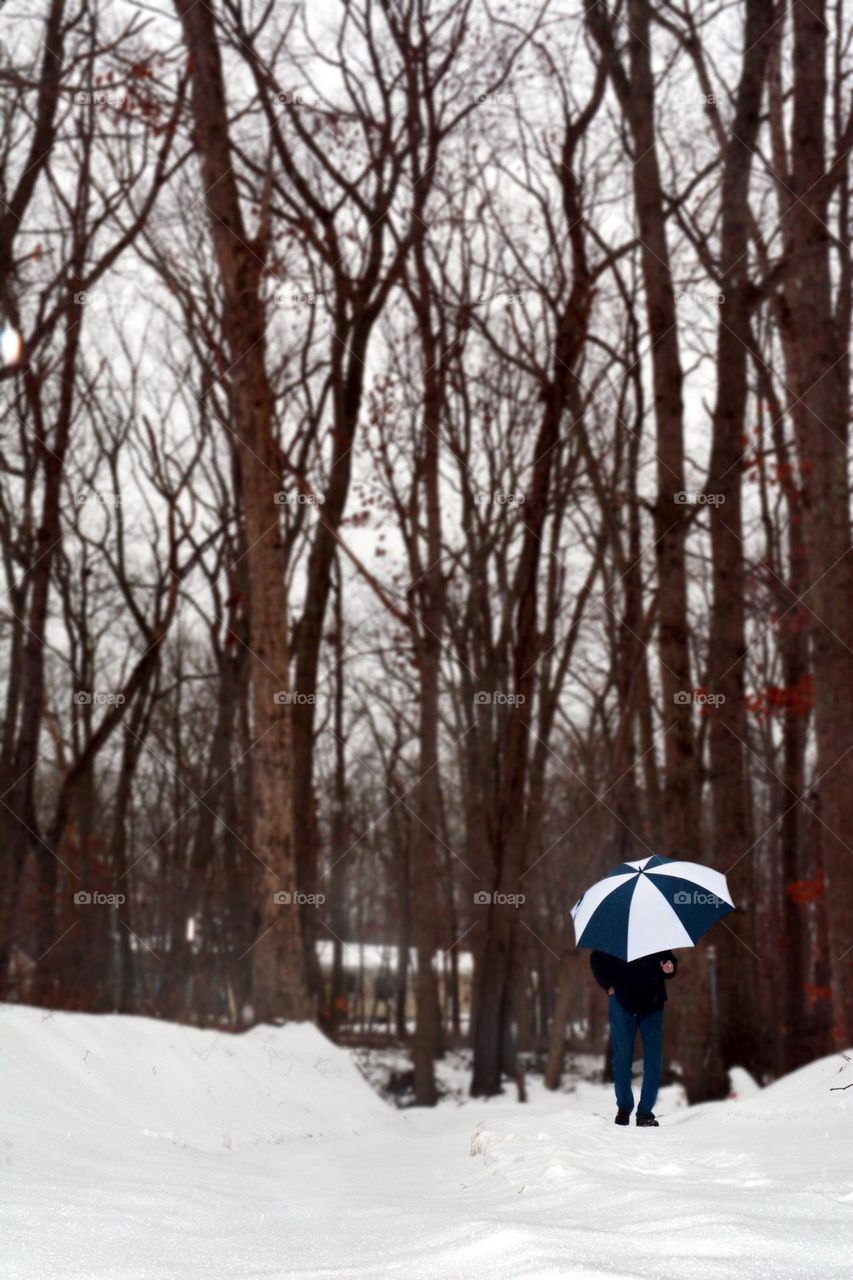
[[[826,872],[827,919],[836,1047],[853,1039],[849,933],[853,919],[853,556],[850,554],[847,348],[834,311],[830,198],[838,169],[827,164],[827,6],[793,0],[794,95],[790,174],[793,198],[784,219],[788,271],[783,306],[797,335],[790,385],[802,402],[794,426],[803,489],[803,531],[815,614],[815,787]],[[847,150],[847,148],[845,148]],[[844,164],[847,161],[844,160]],[[845,179],[843,179],[845,180]],[[843,280],[847,276],[841,276]],[[841,300],[840,315],[847,314]]]

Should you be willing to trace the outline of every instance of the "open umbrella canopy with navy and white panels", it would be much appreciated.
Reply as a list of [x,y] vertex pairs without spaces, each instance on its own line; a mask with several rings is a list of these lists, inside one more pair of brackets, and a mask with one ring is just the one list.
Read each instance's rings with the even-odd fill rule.
[[571,909],[579,947],[638,960],[692,947],[734,902],[722,872],[674,858],[620,863]]

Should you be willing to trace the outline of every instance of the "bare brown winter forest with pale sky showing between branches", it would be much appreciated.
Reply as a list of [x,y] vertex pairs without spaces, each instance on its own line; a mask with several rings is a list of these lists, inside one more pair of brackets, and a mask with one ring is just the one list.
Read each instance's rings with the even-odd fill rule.
[[1,1000],[524,1098],[660,854],[692,1102],[853,1043],[852,23],[0,6]]

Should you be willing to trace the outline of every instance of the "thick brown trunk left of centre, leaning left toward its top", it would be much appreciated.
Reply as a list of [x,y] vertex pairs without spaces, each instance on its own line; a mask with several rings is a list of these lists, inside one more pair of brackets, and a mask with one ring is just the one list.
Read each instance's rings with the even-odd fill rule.
[[302,1019],[310,1006],[293,846],[289,637],[284,553],[274,495],[280,488],[274,401],[266,372],[261,296],[266,211],[252,241],[245,223],[229,141],[225,79],[211,9],[175,0],[191,54],[193,137],[210,237],[225,298],[250,593],[252,689],[251,842],[257,863],[252,1004],[259,1021]]

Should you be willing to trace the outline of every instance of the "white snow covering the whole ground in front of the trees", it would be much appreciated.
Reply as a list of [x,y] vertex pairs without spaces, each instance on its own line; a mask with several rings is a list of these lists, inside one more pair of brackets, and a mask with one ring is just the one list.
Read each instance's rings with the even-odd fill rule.
[[396,1111],[310,1027],[0,1006],[5,1280],[850,1280],[853,1065],[660,1129],[610,1089]]

